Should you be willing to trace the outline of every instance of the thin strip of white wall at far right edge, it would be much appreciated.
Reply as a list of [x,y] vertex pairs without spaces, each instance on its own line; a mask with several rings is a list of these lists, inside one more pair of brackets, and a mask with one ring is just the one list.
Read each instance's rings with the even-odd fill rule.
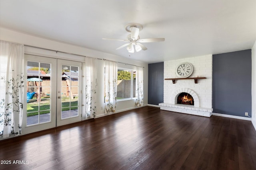
[[252,47],[252,124],[256,129],[256,41]]

